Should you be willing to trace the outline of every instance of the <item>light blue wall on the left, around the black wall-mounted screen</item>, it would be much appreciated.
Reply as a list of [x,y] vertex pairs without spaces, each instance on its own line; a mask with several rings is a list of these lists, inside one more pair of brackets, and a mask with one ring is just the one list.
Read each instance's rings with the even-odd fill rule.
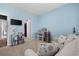
[[15,19],[19,19],[19,20],[26,20],[26,19],[30,19],[32,26],[32,35],[33,33],[37,30],[37,17],[33,16],[32,14],[28,13],[28,12],[24,12],[21,11],[19,9],[13,8],[9,5],[5,5],[5,4],[0,4],[0,12],[7,14],[8,15],[8,45],[11,45],[11,34],[12,34],[12,29],[16,28],[17,32],[23,32],[23,25],[22,26],[13,26],[10,25],[10,19],[11,18],[15,18]]

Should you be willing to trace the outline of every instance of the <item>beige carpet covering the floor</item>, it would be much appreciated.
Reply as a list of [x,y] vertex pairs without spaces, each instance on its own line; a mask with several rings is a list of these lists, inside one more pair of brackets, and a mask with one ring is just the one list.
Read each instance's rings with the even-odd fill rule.
[[38,44],[42,43],[39,40],[27,40],[24,44],[20,44],[13,47],[0,48],[0,56],[23,56],[24,51],[28,48],[37,52]]

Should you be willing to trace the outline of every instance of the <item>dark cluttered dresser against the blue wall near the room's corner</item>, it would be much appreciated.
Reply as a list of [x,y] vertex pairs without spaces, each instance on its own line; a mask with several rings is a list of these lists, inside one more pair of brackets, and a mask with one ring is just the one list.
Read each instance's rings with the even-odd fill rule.
[[36,39],[45,41],[45,42],[50,42],[50,32],[46,30],[40,30],[36,34]]

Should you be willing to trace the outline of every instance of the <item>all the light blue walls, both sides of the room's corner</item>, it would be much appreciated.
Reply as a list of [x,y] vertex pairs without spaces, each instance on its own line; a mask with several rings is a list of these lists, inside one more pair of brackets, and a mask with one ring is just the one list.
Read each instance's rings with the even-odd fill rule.
[[15,18],[19,20],[26,20],[27,18],[32,22],[32,37],[35,32],[42,27],[48,28],[51,32],[52,39],[58,37],[60,34],[72,33],[73,27],[79,29],[79,8],[77,4],[66,4],[51,12],[42,14],[40,16],[33,16],[28,12],[13,8],[11,6],[0,4],[0,12],[7,14],[8,18],[8,43],[11,44],[12,29],[15,27],[17,31],[23,31],[23,26],[10,25],[10,19]]

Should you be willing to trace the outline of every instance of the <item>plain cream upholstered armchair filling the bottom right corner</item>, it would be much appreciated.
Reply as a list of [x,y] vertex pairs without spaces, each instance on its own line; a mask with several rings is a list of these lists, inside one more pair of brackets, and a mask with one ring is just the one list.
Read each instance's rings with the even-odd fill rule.
[[79,38],[76,35],[68,35],[66,45],[56,56],[77,56],[79,55]]

